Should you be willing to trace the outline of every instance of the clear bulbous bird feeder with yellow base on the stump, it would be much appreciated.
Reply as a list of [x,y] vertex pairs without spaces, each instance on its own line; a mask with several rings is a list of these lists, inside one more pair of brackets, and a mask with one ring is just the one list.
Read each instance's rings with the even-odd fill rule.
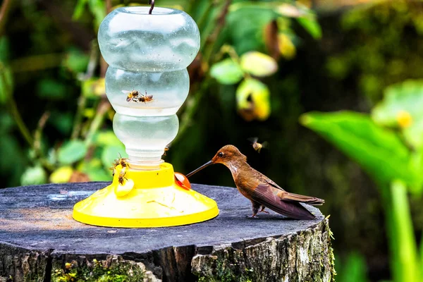
[[[99,27],[109,63],[106,94],[113,128],[125,145],[127,167],[113,183],[75,204],[73,218],[111,227],[178,226],[212,219],[216,202],[176,178],[161,156],[178,133],[176,111],[190,87],[187,67],[200,49],[200,32],[187,13],[171,8],[116,8]],[[125,164],[123,164],[125,166]]]

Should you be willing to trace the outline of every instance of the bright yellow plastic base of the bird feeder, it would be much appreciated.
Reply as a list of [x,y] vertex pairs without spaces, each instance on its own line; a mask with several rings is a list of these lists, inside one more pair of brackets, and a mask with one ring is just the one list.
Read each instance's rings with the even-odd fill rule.
[[125,173],[113,183],[75,204],[73,219],[95,226],[149,228],[180,226],[213,219],[219,214],[214,200],[176,184],[173,166]]

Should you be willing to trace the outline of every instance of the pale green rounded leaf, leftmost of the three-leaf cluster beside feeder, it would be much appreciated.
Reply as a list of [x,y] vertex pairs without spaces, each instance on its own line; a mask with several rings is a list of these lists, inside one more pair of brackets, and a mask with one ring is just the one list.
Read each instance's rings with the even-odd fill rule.
[[238,83],[243,78],[244,73],[238,63],[228,58],[215,63],[210,68],[210,75],[221,84],[231,85]]

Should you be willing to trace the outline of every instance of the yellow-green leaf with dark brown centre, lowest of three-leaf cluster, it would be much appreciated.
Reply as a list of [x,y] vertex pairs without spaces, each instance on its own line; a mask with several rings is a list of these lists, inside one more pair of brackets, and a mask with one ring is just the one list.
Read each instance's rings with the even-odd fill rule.
[[270,115],[269,88],[252,78],[245,79],[236,90],[238,112],[245,121],[266,120]]

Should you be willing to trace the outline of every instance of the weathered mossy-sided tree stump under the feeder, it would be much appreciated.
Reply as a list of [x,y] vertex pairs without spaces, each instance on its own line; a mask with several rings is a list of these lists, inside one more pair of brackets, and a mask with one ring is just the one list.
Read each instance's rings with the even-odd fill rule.
[[[329,221],[275,214],[247,219],[238,190],[193,184],[215,219],[169,228],[105,228],[73,205],[109,183],[0,190],[0,281],[333,281]],[[80,280],[78,280],[80,279]]]

